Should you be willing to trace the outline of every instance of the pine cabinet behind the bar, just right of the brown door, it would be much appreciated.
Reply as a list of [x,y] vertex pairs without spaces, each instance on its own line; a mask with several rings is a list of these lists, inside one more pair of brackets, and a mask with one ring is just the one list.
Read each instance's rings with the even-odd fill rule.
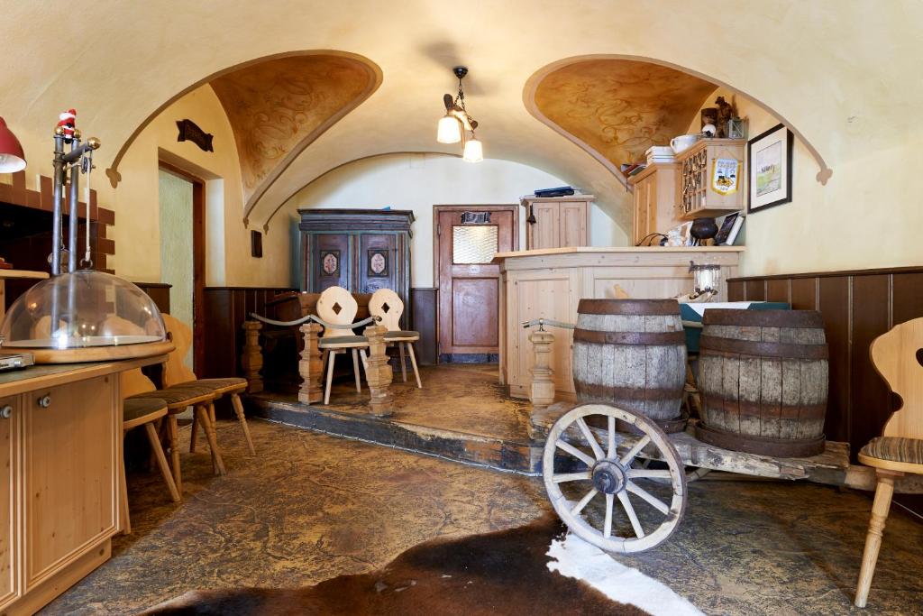
[[593,195],[530,198],[521,200],[526,216],[526,249],[566,248],[590,244],[590,203]]

